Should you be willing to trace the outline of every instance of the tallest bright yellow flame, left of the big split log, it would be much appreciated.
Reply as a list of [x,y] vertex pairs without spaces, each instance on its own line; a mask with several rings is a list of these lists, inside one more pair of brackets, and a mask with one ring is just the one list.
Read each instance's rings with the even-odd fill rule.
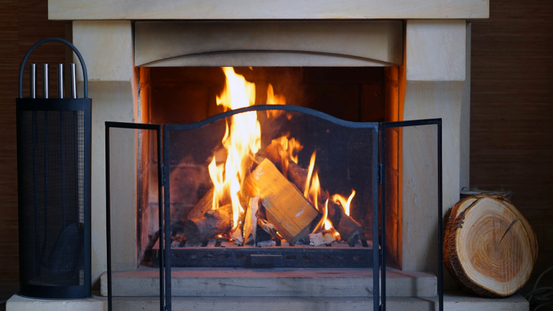
[[[247,82],[235,70],[224,67],[225,89],[216,97],[217,105],[228,109],[249,107],[256,102],[256,85]],[[239,192],[246,178],[251,159],[261,148],[261,127],[256,112],[234,114],[227,121],[223,146],[227,150],[226,162],[217,165],[215,157],[209,164],[209,175],[214,183],[213,208],[219,208],[221,200],[228,192],[233,204],[233,229],[238,227],[239,216],[244,213],[240,204]]]

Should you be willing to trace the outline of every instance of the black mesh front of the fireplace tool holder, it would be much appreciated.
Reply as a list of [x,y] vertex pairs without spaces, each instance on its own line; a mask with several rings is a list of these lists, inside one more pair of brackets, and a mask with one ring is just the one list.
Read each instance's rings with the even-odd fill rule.
[[84,284],[84,112],[18,112],[20,282]]

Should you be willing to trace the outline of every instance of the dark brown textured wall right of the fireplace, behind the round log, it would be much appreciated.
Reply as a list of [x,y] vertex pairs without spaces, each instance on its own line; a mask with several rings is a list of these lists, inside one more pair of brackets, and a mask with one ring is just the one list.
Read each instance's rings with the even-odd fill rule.
[[[492,0],[472,24],[471,185],[513,190],[553,265],[553,1]],[[553,286],[553,272],[539,286]]]

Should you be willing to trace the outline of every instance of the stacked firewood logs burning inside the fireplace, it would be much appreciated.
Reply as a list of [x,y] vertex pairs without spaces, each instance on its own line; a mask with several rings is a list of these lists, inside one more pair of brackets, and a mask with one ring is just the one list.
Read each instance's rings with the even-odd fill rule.
[[[320,226],[323,213],[303,194],[308,169],[297,165],[281,148],[277,142],[267,145],[263,155],[252,161],[250,174],[242,182],[242,206],[246,206],[246,211],[240,215],[239,225],[234,226],[232,234],[239,244],[255,241],[258,226],[292,245],[309,241],[309,234]],[[213,197],[212,188],[186,217],[183,235],[189,243],[201,243],[233,229],[232,205],[212,209]],[[326,192],[320,192],[320,199],[327,202],[327,219],[339,236],[351,245],[359,241],[363,229],[346,214],[344,206],[332,201]],[[328,235],[320,236],[320,243],[328,242]]]

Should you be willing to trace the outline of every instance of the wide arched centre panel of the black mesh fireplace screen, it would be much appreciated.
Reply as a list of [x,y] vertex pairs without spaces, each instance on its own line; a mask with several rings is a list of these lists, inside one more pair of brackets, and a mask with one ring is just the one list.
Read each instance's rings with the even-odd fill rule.
[[[226,137],[229,133],[234,135],[233,126],[247,128],[244,124],[247,118],[242,119],[240,116],[248,114],[254,120],[257,119],[260,128],[260,135],[256,138],[259,140],[258,149],[251,151],[251,162],[248,164],[248,174],[258,179],[255,184],[260,195],[259,208],[263,211],[258,213],[258,220],[270,222],[276,227],[278,235],[263,235],[262,226],[259,225],[255,241],[237,245],[233,235],[235,228],[231,226],[219,230],[221,232],[211,232],[207,238],[203,236],[193,240],[186,228],[193,225],[191,222],[200,227],[198,218],[205,218],[208,213],[192,216],[193,212],[206,196],[213,196],[210,191],[216,185],[212,179],[212,173],[216,170],[210,172],[209,165],[228,165],[227,160],[233,153],[233,147],[228,146]],[[167,181],[164,188],[165,222],[171,224],[165,227],[166,244],[170,245],[170,248],[165,249],[166,273],[170,275],[166,279],[167,297],[170,296],[167,299],[168,308],[186,310],[194,296],[202,296],[203,302],[214,304],[220,303],[223,296],[236,299],[256,296],[260,305],[286,297],[290,310],[299,310],[295,305],[325,303],[332,299],[329,297],[337,301],[345,299],[359,303],[363,308],[370,306],[367,310],[378,310],[379,280],[373,278],[373,275],[378,275],[379,260],[378,238],[374,238],[375,232],[378,233],[377,129],[377,123],[346,122],[311,109],[280,105],[252,106],[214,116],[200,123],[164,126],[164,175]],[[290,149],[286,147],[286,156],[281,155],[275,160],[271,154],[271,146],[275,142],[283,146],[285,140],[288,146],[293,141],[301,145],[297,153],[292,152],[297,160],[283,162],[283,158],[290,155]],[[302,182],[296,179],[298,174],[309,171],[312,158],[314,169],[310,174],[311,179],[317,172],[321,192],[324,192],[318,197],[317,203],[309,194],[305,196],[305,179]],[[275,167],[275,170],[263,170],[266,166]],[[275,177],[274,185],[260,185],[264,177],[258,171],[264,174],[274,172],[279,177]],[[292,188],[286,188],[287,183]],[[240,181],[240,184],[244,185],[244,181]],[[348,234],[342,234],[346,231],[340,229],[341,225],[347,225],[346,216],[339,218],[327,213],[333,229],[339,232],[338,241],[309,245],[310,238],[291,240],[293,235],[282,234],[286,227],[283,227],[283,220],[279,217],[286,218],[286,215],[270,215],[272,211],[267,211],[273,207],[266,193],[276,189],[274,192],[282,195],[278,191],[280,188],[299,192],[300,198],[297,200],[302,201],[304,198],[309,208],[314,208],[315,217],[312,222],[307,222],[307,234],[320,233],[316,226],[323,217],[326,199],[330,202],[330,197],[339,194],[347,201],[352,190],[355,190],[348,218],[359,223],[362,233],[349,243]],[[292,211],[297,203],[293,202],[287,203],[287,208],[290,208],[287,211]],[[212,203],[210,201],[209,204]],[[221,206],[226,206],[224,198],[219,204],[217,212],[209,213],[219,215]],[[332,201],[332,204],[341,203]],[[246,204],[243,206],[246,207]],[[295,220],[300,217],[295,215],[299,214],[293,213],[294,217],[286,219]],[[235,275],[236,271],[239,275]],[[202,284],[198,287],[183,286],[191,284],[190,275],[196,280],[203,280]],[[321,275],[326,277],[321,278]],[[329,275],[332,278],[327,278]],[[287,282],[281,282],[279,287],[269,289],[277,278],[285,278],[290,282],[288,285]],[[309,280],[309,285],[304,283],[300,286],[295,280]],[[221,287],[221,282],[226,286]],[[244,310],[251,310],[248,308]],[[287,310],[288,307],[283,304],[283,308]]]

